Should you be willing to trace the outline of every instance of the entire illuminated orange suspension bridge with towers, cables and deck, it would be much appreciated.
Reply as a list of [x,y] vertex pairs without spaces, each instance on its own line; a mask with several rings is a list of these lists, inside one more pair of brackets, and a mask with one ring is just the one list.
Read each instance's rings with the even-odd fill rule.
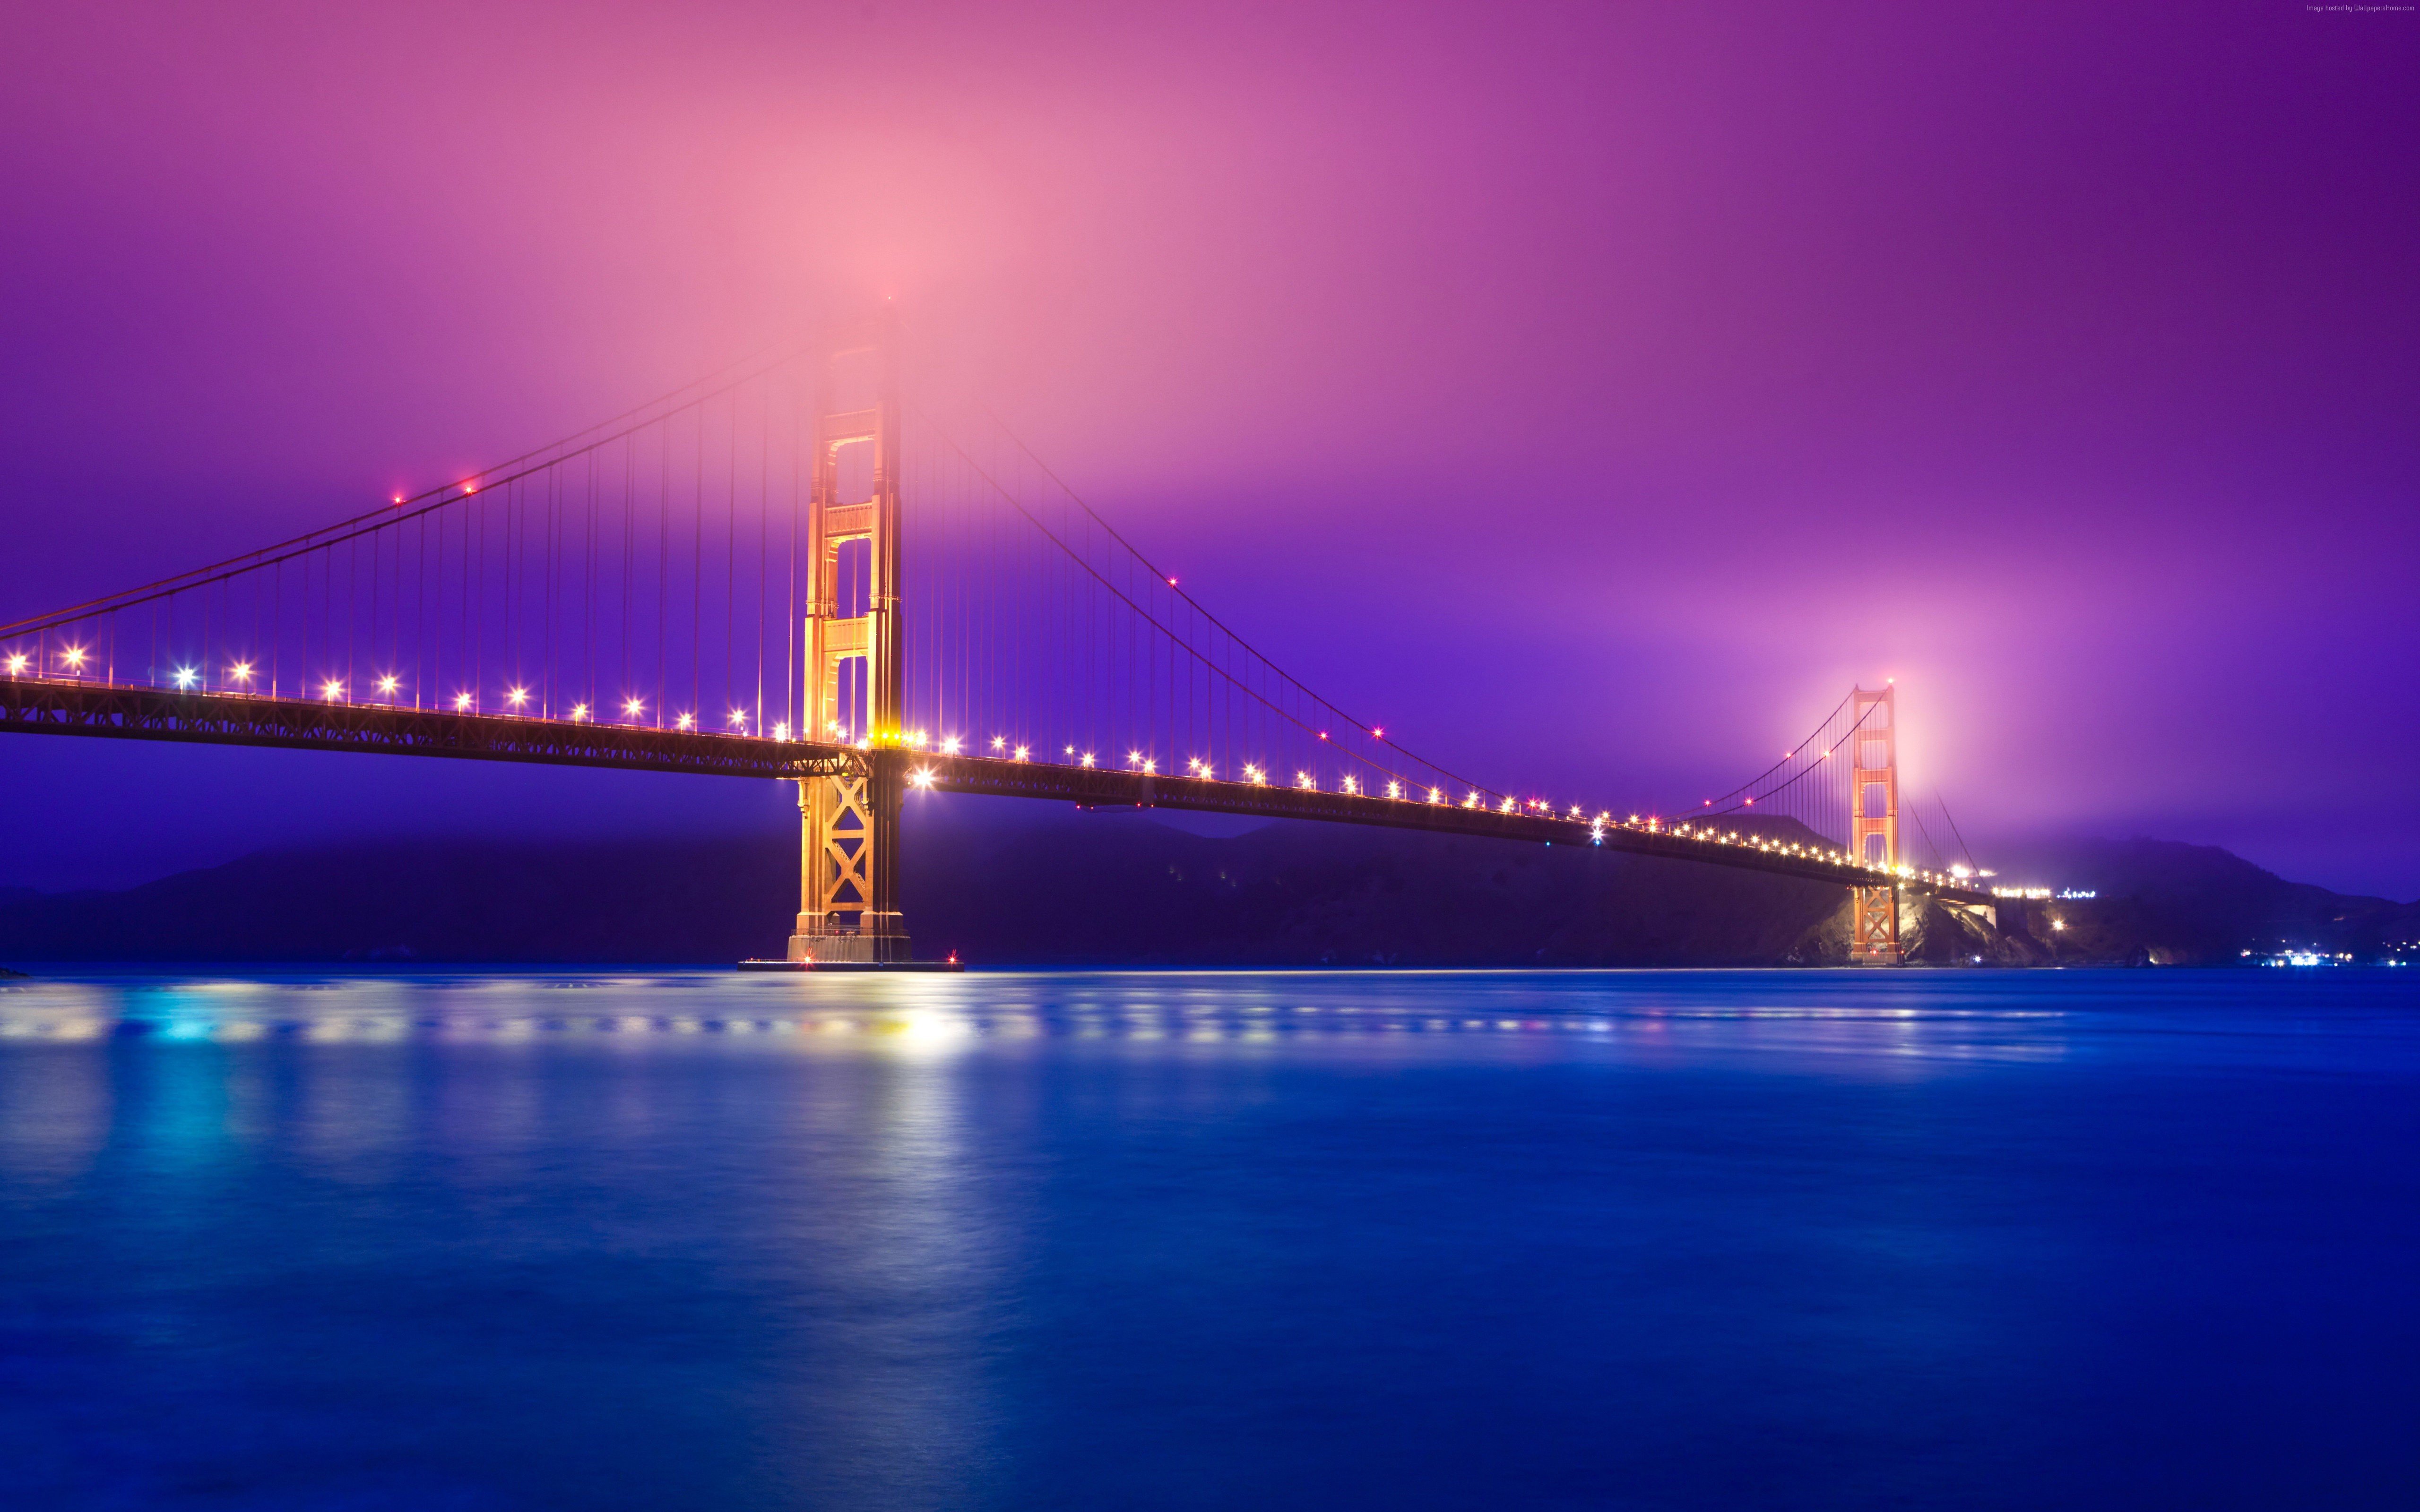
[[[1834,883],[1851,960],[1912,895],[1987,914],[1897,692],[1713,798],[1602,806],[1416,755],[1285,673],[992,416],[903,387],[893,317],[479,474],[0,624],[0,731],[794,781],[782,960],[910,965],[917,789],[1392,825]],[[1036,878],[1048,885],[1048,878]]]

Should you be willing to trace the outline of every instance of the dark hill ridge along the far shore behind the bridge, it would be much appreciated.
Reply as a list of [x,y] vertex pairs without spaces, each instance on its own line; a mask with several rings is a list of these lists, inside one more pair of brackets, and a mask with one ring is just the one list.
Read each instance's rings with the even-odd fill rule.
[[[1762,827],[1762,823],[1759,823]],[[1452,835],[1273,823],[1215,839],[1142,813],[1024,827],[929,818],[903,876],[924,953],[997,965],[1822,965],[1844,895],[1750,871]],[[264,852],[116,893],[0,890],[0,960],[627,960],[779,953],[786,835],[411,839]],[[2287,883],[2217,847],[2064,847],[2091,902],[1982,931],[1909,907],[1919,958],[2226,963],[2282,943],[2362,958],[2420,905]],[[2052,927],[2052,914],[2059,927]]]

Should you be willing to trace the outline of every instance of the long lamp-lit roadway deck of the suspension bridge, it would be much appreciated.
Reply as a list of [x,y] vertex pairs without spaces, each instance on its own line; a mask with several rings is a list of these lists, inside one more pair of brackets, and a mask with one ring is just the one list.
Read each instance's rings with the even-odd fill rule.
[[[1324,789],[1263,786],[1212,777],[1171,777],[1060,762],[939,755],[924,750],[859,750],[813,740],[770,740],[721,731],[661,731],[651,726],[455,714],[399,704],[341,704],[232,692],[172,692],[53,677],[0,680],[0,733],[104,735],[121,740],[184,740],[206,745],[269,745],[283,750],[358,750],[385,755],[615,767],[624,772],[685,772],[702,777],[830,777],[898,764],[905,781],[946,793],[1053,798],[1091,808],[1191,808],[1392,830],[1486,835],[1544,844],[1604,849],[1672,861],[1709,861],[1842,888],[1888,883],[1890,876],[1721,827],[1675,832],[1663,823],[1595,825],[1585,818]],[[1989,907],[1992,895],[1958,878],[1914,873],[1902,888],[1943,902]]]

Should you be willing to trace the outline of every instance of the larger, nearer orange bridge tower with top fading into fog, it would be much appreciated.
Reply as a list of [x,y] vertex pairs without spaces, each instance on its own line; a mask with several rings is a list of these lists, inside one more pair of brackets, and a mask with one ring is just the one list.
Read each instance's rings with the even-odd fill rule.
[[908,960],[900,832],[900,394],[888,314],[835,344],[816,387],[806,740],[864,743],[852,777],[799,779],[791,960]]

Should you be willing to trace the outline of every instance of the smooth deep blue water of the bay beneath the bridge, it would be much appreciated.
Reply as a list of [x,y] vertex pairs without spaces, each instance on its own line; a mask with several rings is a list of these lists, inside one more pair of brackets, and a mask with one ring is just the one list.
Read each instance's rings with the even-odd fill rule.
[[2364,973],[46,977],[0,1505],[2413,1507]]

